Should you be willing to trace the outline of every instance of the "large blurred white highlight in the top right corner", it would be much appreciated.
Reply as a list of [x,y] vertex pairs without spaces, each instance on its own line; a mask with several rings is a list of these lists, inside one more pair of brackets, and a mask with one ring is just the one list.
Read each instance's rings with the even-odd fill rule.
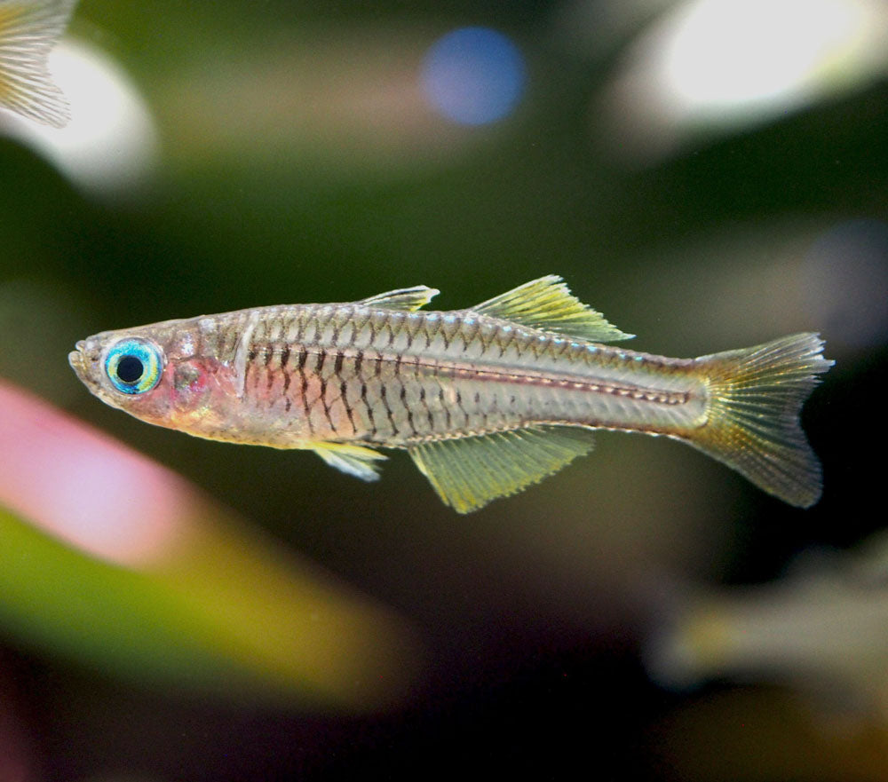
[[884,0],[686,0],[628,47],[591,120],[654,162],[862,89],[888,70],[886,40]]

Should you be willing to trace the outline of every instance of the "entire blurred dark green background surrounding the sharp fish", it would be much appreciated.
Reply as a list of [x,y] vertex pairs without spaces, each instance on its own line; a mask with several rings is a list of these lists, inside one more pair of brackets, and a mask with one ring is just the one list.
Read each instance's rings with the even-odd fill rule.
[[[888,5],[82,0],[0,115],[0,779],[888,778]],[[76,340],[547,273],[690,357],[817,330],[793,509],[692,449],[468,517],[155,429]],[[125,445],[123,445],[125,444]]]

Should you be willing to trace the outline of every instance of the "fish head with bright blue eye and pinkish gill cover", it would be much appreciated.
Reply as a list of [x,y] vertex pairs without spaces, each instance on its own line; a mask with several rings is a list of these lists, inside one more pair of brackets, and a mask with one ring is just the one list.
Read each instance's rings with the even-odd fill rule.
[[68,354],[75,374],[111,407],[147,423],[218,437],[232,385],[226,364],[195,352],[191,321],[104,331]]

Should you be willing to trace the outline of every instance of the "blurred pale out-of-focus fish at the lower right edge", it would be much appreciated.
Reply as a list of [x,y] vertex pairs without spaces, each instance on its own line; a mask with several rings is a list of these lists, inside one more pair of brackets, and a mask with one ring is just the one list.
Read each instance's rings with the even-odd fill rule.
[[755,586],[661,574],[651,599],[643,656],[663,687],[789,685],[826,712],[888,723],[888,533],[847,551],[805,549],[781,578]]

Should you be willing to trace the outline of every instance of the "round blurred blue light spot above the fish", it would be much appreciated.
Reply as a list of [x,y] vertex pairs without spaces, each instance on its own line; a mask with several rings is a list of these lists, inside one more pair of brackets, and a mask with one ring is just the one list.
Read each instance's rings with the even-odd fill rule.
[[453,122],[483,125],[511,114],[524,91],[525,65],[509,38],[490,28],[459,28],[438,39],[423,69],[432,106]]

